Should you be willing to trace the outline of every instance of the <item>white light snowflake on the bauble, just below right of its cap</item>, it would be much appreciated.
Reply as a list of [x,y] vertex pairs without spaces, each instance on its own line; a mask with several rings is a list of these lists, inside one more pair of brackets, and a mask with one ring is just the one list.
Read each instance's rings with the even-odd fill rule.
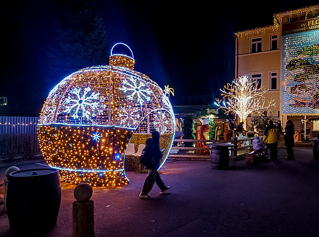
[[129,81],[124,79],[122,83],[123,86],[119,90],[123,91],[129,100],[136,101],[140,105],[150,101],[151,91],[144,82],[138,81],[137,84],[137,80],[130,77]]

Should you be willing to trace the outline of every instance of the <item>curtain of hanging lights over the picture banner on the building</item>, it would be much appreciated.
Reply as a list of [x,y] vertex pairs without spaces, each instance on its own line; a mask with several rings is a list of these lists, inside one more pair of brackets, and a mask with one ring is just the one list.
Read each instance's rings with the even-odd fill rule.
[[319,30],[283,36],[282,112],[319,115]]

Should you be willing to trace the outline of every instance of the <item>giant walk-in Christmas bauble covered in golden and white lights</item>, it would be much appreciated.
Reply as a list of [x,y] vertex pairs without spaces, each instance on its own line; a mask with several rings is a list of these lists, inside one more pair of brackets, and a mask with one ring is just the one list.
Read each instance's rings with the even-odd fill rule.
[[[49,93],[41,111],[38,139],[47,163],[59,169],[61,180],[91,185],[122,185],[129,142],[145,144],[150,133],[161,133],[166,148],[174,139],[175,117],[163,90],[134,71],[135,60],[113,54],[109,66],[72,73]],[[130,141],[131,139],[131,141]]]

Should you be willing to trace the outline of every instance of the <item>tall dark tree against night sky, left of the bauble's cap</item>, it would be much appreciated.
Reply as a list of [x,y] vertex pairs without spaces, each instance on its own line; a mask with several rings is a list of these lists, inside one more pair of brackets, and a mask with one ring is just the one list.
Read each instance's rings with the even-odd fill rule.
[[108,64],[108,39],[100,13],[91,0],[73,0],[64,25],[55,23],[56,44],[49,45],[50,67],[57,76]]

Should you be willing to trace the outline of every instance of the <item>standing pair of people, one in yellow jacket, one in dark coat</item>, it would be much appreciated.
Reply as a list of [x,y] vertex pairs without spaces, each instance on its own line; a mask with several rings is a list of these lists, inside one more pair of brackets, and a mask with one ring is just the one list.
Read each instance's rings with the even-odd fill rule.
[[[278,141],[280,139],[280,134],[282,133],[281,123],[274,125],[273,121],[269,121],[268,126],[265,129],[263,141],[268,144],[270,150],[270,160],[278,159]],[[294,135],[295,127],[291,120],[288,120],[285,127],[285,146],[287,147],[288,156],[285,159],[293,160],[294,157]]]

